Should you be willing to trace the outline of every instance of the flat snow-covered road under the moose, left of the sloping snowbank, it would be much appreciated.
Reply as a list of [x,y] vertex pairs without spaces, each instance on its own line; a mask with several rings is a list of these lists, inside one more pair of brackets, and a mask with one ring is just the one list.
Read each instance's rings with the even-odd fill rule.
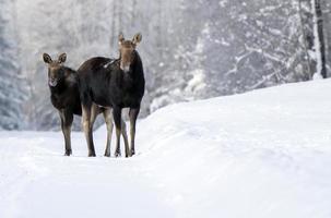
[[60,133],[1,134],[0,217],[169,217],[139,157],[87,158],[75,133],[68,158],[61,140]]

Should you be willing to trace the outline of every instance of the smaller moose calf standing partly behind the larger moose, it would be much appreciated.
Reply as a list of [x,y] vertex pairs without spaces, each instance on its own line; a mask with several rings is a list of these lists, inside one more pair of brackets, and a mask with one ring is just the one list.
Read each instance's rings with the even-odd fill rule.
[[[48,86],[50,89],[50,100],[52,106],[58,110],[61,119],[61,130],[64,136],[64,155],[70,156],[72,154],[70,134],[73,116],[82,116],[79,76],[76,71],[63,65],[67,60],[66,53],[60,55],[58,60],[51,60],[48,53],[44,53],[43,59],[48,65]],[[94,123],[99,113],[103,113],[107,125],[106,150],[109,150],[114,128],[111,108],[99,107],[93,104],[91,111],[91,123]],[[128,144],[126,123],[123,120],[120,120],[120,122],[125,143]],[[95,156],[95,152],[93,150],[90,156]]]

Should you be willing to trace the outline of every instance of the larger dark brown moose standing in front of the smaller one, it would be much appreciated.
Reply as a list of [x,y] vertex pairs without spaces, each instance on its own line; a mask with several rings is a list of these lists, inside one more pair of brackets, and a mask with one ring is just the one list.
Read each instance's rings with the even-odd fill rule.
[[[126,40],[123,35],[120,34],[118,38],[118,59],[95,57],[85,61],[78,70],[83,113],[82,122],[91,155],[94,154],[93,122],[91,122],[93,104],[113,108],[116,126],[116,157],[121,156],[121,111],[122,108],[129,108],[131,148],[128,144],[125,144],[126,157],[135,154],[135,122],[145,87],[142,61],[135,50],[141,39],[141,34],[135,34],[132,40]],[[106,150],[105,155],[108,156],[109,153],[109,150]]]

